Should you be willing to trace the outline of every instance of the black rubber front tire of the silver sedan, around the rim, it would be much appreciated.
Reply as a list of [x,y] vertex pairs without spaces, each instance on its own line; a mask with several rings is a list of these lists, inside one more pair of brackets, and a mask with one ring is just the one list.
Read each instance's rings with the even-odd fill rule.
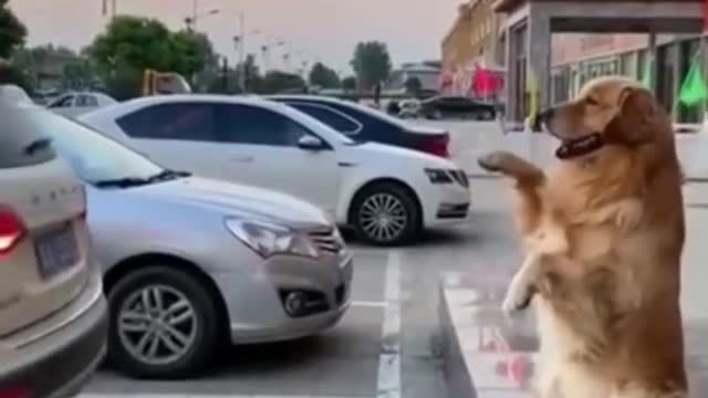
[[[158,293],[156,289],[159,287]],[[165,328],[152,332],[153,338],[144,337],[150,332],[144,332],[140,337],[139,332],[133,331],[133,335],[128,329],[128,326],[118,326],[118,318],[127,318],[127,311],[131,307],[131,302],[136,300],[136,294],[148,292],[152,294],[152,304],[156,305],[156,295],[163,294],[162,305],[163,308],[176,307],[175,304],[181,301],[186,301],[180,305],[185,310],[192,312],[191,320],[181,321],[170,326],[181,333],[180,338],[176,338],[177,334],[171,334],[169,341],[173,346],[175,342],[179,342],[184,345],[184,352],[180,355],[174,355],[171,360],[163,358],[158,360],[155,358],[150,360],[145,359],[152,349],[154,339],[158,339],[159,348],[169,350],[168,345],[165,344],[164,336],[169,332]],[[160,293],[162,292],[162,293]],[[173,300],[170,300],[170,296]],[[150,379],[180,379],[197,376],[207,365],[207,362],[216,353],[218,343],[220,342],[219,331],[219,317],[217,305],[212,294],[199,282],[199,279],[192,274],[177,270],[173,266],[165,265],[149,265],[140,268],[137,271],[131,272],[123,279],[121,279],[108,292],[108,305],[110,305],[110,329],[108,329],[108,363],[112,364],[117,370],[124,373],[134,378],[150,378]],[[140,296],[142,297],[142,296]],[[131,310],[131,314],[137,314],[139,316],[148,315],[152,310],[145,310],[144,300],[138,303],[138,310]],[[178,300],[178,301],[177,301]],[[140,311],[142,308],[142,311]],[[157,312],[155,310],[154,312]],[[167,313],[167,312],[165,312]],[[174,311],[173,316],[167,316],[162,321],[164,324],[170,324],[170,318],[174,321],[178,317],[184,317],[187,311],[177,312]],[[135,315],[135,316],[137,316]],[[149,315],[149,316],[154,316]],[[136,318],[137,320],[137,318]],[[133,320],[135,321],[135,320]],[[133,322],[132,321],[132,322]],[[140,320],[143,328],[145,324],[149,324],[149,327],[163,327],[155,326],[155,323],[148,320]],[[137,325],[136,322],[134,325]],[[186,325],[191,325],[191,328],[187,331]],[[138,327],[138,326],[133,326]],[[160,337],[155,337],[160,334]],[[135,339],[132,339],[136,336]],[[187,336],[187,342],[184,342],[184,337]],[[143,347],[145,353],[144,358],[140,358],[139,354],[136,354],[136,345],[139,345],[142,338],[148,338],[147,348]],[[132,345],[132,347],[131,347]]]

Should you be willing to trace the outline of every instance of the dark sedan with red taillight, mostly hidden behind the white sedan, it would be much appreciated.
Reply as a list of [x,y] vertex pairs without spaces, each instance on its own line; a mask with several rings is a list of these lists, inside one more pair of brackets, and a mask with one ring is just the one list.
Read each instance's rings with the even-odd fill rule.
[[322,96],[267,96],[294,107],[357,142],[395,145],[448,157],[450,135],[437,127],[406,123],[367,106]]

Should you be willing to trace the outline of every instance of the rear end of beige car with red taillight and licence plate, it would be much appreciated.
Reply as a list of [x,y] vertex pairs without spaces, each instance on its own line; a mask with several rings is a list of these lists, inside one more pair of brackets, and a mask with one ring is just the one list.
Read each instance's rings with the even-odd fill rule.
[[105,354],[84,188],[34,108],[0,95],[0,397],[72,396]]

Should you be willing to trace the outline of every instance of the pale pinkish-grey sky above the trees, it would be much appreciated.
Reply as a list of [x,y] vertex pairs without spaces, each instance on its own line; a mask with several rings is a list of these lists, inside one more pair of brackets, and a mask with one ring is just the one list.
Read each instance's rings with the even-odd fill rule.
[[[103,31],[103,0],[10,0],[28,25],[30,45],[54,43],[72,49],[90,44]],[[341,73],[360,41],[381,40],[394,64],[440,57],[440,41],[462,0],[115,0],[118,13],[157,18],[170,29],[184,27],[195,2],[197,29],[209,35],[217,51],[238,61],[231,38],[239,34],[238,12],[244,15],[246,49],[261,66],[294,71],[304,61],[321,61]],[[111,0],[108,0],[108,3]],[[256,32],[254,32],[256,31]],[[285,45],[263,57],[267,42]],[[288,63],[283,53],[291,53]],[[263,64],[266,63],[266,65]]]

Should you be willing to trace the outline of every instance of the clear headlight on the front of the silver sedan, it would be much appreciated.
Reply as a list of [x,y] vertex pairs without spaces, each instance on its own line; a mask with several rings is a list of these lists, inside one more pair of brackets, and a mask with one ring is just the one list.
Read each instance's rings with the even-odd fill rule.
[[229,218],[226,220],[226,228],[263,259],[275,254],[319,256],[317,249],[308,237],[285,226]]

